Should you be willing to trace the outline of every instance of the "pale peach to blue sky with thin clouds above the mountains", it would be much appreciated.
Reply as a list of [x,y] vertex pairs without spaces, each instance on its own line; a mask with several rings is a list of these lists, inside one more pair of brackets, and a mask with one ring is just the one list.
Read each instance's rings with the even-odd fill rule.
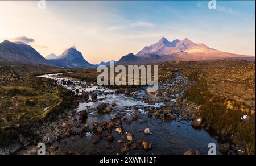
[[0,42],[41,55],[75,45],[92,64],[137,53],[164,36],[255,56],[255,1],[0,1]]

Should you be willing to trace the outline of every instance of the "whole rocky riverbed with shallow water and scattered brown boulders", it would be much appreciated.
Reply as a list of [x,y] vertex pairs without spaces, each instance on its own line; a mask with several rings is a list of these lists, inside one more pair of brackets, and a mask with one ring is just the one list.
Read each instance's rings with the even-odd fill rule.
[[[221,154],[217,135],[208,126],[201,128],[199,106],[184,97],[193,82],[174,74],[154,93],[143,87],[108,89],[61,74],[39,76],[73,90],[77,107],[54,122],[38,124],[35,132],[48,154],[207,154],[209,143],[215,143]],[[22,135],[20,142],[22,150],[2,153],[37,152],[29,145],[38,142]]]

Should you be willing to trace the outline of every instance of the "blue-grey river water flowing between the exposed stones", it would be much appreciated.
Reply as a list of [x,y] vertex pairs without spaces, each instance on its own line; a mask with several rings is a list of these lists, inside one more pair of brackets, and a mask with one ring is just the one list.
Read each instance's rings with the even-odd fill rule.
[[[61,73],[47,74],[39,77],[57,80],[57,84],[60,84],[69,90],[73,90],[74,92],[76,89],[79,89],[80,92],[77,94],[82,94],[82,91],[94,91],[98,92],[98,99],[105,98],[105,100],[97,102],[81,102],[79,107],[77,107],[77,112],[81,110],[86,110],[88,112],[88,119],[86,123],[89,125],[89,128],[93,128],[93,122],[109,122],[110,118],[117,114],[121,114],[128,119],[132,119],[131,116],[133,113],[138,114],[137,121],[132,121],[131,124],[123,123],[122,127],[125,131],[134,132],[135,142],[138,140],[151,142],[153,144],[153,148],[148,151],[143,148],[139,148],[137,150],[130,148],[130,154],[183,154],[189,149],[191,149],[193,153],[198,150],[200,154],[207,154],[209,150],[209,143],[216,144],[216,153],[221,154],[218,142],[213,138],[214,136],[217,136],[213,134],[214,132],[208,132],[200,127],[192,127],[191,121],[177,122],[176,120],[166,120],[165,122],[162,122],[159,118],[155,119],[154,116],[148,117],[147,112],[143,110],[144,107],[159,107],[164,105],[164,103],[144,103],[142,98],[146,97],[147,94],[143,89],[140,92],[136,92],[136,97],[127,97],[125,94],[114,93],[114,90],[112,89],[88,85],[86,82],[71,80],[69,78],[61,78],[60,75]],[[63,81],[68,80],[70,80],[74,85],[68,86],[62,84]],[[87,85],[88,87],[82,88],[81,85]],[[175,101],[175,99],[173,99],[173,101]],[[109,103],[111,105],[113,102],[115,102],[117,106],[111,113],[97,113],[96,107],[100,103]],[[137,106],[138,110],[131,109],[131,106]],[[151,134],[145,135],[143,133],[145,128],[150,128]],[[106,131],[102,134],[103,137],[105,134]],[[112,135],[114,136],[113,142],[108,142],[108,140],[103,138],[98,144],[93,144],[94,135],[97,134],[95,132],[89,132],[84,134],[82,137],[76,136],[75,141],[71,141],[70,138],[64,138],[59,142],[54,142],[53,144],[58,145],[63,151],[80,151],[84,154],[97,154],[100,150],[102,154],[114,154],[123,147],[122,144],[118,144],[118,140],[121,139],[123,143],[125,142],[125,140],[122,139],[122,136],[114,130],[112,131]],[[106,146],[114,146],[115,151],[110,152],[109,150],[106,150]]]

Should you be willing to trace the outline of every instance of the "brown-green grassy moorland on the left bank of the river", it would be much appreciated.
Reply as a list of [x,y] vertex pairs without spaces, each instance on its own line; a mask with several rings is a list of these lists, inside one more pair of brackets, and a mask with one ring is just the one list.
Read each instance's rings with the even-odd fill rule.
[[34,122],[54,117],[72,105],[70,92],[53,80],[7,66],[0,71],[0,145],[27,132]]

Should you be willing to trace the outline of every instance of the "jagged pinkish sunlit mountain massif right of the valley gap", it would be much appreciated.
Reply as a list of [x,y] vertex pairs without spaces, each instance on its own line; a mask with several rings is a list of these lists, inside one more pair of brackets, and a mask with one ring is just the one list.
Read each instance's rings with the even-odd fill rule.
[[119,63],[154,63],[171,60],[200,61],[216,59],[244,59],[255,61],[255,56],[238,55],[209,48],[205,44],[196,44],[185,38],[168,41],[162,37],[159,42],[144,47],[136,55],[129,53]]

